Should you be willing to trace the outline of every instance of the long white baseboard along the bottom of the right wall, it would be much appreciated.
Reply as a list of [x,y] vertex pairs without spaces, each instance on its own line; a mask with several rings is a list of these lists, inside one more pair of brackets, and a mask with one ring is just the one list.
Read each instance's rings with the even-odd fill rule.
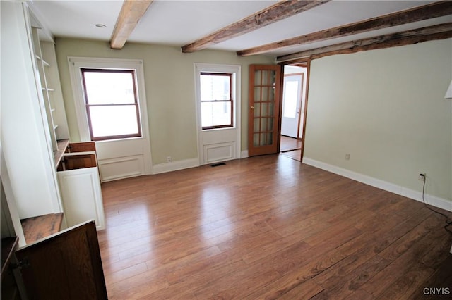
[[[371,185],[372,187],[378,187],[379,189],[384,189],[385,191],[392,192],[394,194],[398,194],[400,196],[405,196],[407,198],[422,202],[422,192],[417,192],[414,189],[408,189],[407,187],[395,185],[391,182],[379,180],[374,177],[363,175],[361,173],[356,173],[344,168],[340,168],[335,165],[330,165],[328,163],[323,163],[321,161],[316,161],[314,159],[307,157],[303,158],[303,163],[306,163],[307,165],[312,165],[313,167],[320,168],[331,173],[335,173],[350,178],[352,180],[365,183],[366,185]],[[442,208],[446,211],[452,211],[452,201],[450,200],[439,198],[437,196],[432,196],[429,194],[425,194],[424,198],[426,203],[429,205]]]

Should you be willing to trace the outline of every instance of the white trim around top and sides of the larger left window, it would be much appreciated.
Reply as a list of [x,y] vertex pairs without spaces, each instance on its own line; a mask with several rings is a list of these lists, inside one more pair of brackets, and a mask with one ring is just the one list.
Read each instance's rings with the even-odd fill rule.
[[[88,115],[85,109],[85,93],[83,92],[83,79],[81,68],[103,68],[114,70],[135,70],[137,99],[141,118],[142,137],[130,137],[127,139],[148,139],[148,110],[146,108],[145,81],[143,72],[143,61],[140,59],[119,58],[90,58],[90,57],[68,57],[69,73],[71,75],[72,93],[76,108],[78,132],[82,142],[90,141],[90,130],[88,126]],[[102,142],[102,141],[98,141]]]

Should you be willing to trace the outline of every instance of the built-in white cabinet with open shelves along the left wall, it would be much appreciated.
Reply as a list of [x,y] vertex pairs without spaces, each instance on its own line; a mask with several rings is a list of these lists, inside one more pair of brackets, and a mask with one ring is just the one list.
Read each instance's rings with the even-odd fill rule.
[[[70,153],[52,35],[32,13],[32,2],[0,1],[0,6],[1,185],[19,246],[28,244],[23,224],[34,218],[62,213],[61,229],[90,219],[102,229],[95,150]],[[88,156],[95,164],[73,168],[65,156],[82,161]]]

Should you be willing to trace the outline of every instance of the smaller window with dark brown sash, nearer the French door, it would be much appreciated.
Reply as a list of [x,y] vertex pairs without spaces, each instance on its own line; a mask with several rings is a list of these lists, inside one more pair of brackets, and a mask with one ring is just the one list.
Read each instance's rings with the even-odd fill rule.
[[201,73],[201,127],[233,127],[232,74]]

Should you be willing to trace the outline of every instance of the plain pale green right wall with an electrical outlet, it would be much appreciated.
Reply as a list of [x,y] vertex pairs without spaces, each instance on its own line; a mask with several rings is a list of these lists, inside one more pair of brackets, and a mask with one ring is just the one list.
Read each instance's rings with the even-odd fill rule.
[[381,180],[415,198],[418,174],[427,173],[430,199],[452,211],[452,101],[444,99],[452,39],[320,58],[310,75],[307,163]]

